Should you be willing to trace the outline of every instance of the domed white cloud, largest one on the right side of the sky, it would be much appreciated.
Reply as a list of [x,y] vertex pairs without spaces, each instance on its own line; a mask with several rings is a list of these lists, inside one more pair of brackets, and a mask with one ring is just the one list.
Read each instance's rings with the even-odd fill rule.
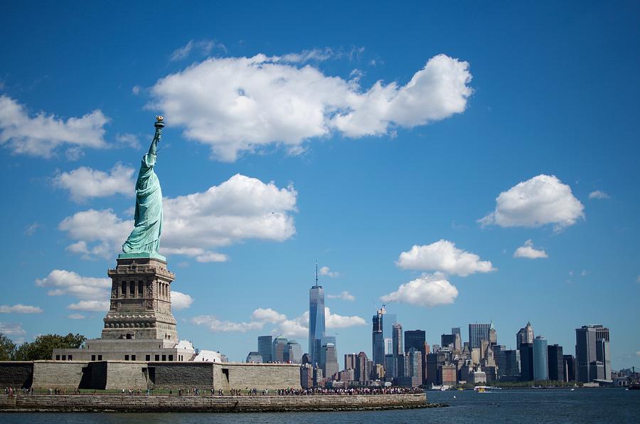
[[496,209],[478,222],[501,227],[554,224],[555,230],[562,230],[584,219],[584,209],[570,186],[556,176],[540,174],[503,191],[496,198]]

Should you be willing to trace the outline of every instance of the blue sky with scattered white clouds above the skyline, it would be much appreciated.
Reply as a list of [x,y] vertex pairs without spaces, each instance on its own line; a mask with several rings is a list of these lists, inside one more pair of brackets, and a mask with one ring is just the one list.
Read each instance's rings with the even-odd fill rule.
[[388,302],[430,344],[494,319],[515,346],[530,321],[573,353],[575,328],[604,324],[614,369],[640,365],[638,4],[1,12],[14,340],[100,335],[162,113],[161,246],[197,347],[242,360],[280,332],[306,346],[318,260],[339,354],[370,354]]

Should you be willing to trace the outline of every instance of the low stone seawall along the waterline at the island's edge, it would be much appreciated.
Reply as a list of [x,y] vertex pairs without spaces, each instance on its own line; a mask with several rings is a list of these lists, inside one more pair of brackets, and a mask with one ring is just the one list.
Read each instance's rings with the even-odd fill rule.
[[310,396],[0,395],[0,412],[311,412],[439,408],[424,393]]

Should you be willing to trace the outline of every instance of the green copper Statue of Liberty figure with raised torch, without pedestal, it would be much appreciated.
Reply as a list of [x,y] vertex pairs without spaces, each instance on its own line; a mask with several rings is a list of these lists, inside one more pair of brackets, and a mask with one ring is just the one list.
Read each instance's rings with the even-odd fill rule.
[[122,245],[124,255],[119,258],[159,258],[160,235],[162,233],[162,190],[160,181],[154,172],[156,164],[156,147],[160,142],[164,118],[156,117],[156,134],[140,164],[136,181],[136,212],[134,229]]

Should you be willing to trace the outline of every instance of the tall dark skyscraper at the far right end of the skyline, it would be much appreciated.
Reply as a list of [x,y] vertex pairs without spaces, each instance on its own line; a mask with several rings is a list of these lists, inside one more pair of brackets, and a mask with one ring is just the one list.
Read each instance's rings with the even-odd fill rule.
[[[598,341],[600,341],[599,344]],[[611,358],[607,356],[610,356],[609,329],[607,327],[583,325],[581,328],[575,329],[577,381],[589,383],[604,376],[609,380],[611,378]],[[601,373],[598,372],[599,369],[602,369]],[[602,376],[592,375],[593,373],[602,374]]]

